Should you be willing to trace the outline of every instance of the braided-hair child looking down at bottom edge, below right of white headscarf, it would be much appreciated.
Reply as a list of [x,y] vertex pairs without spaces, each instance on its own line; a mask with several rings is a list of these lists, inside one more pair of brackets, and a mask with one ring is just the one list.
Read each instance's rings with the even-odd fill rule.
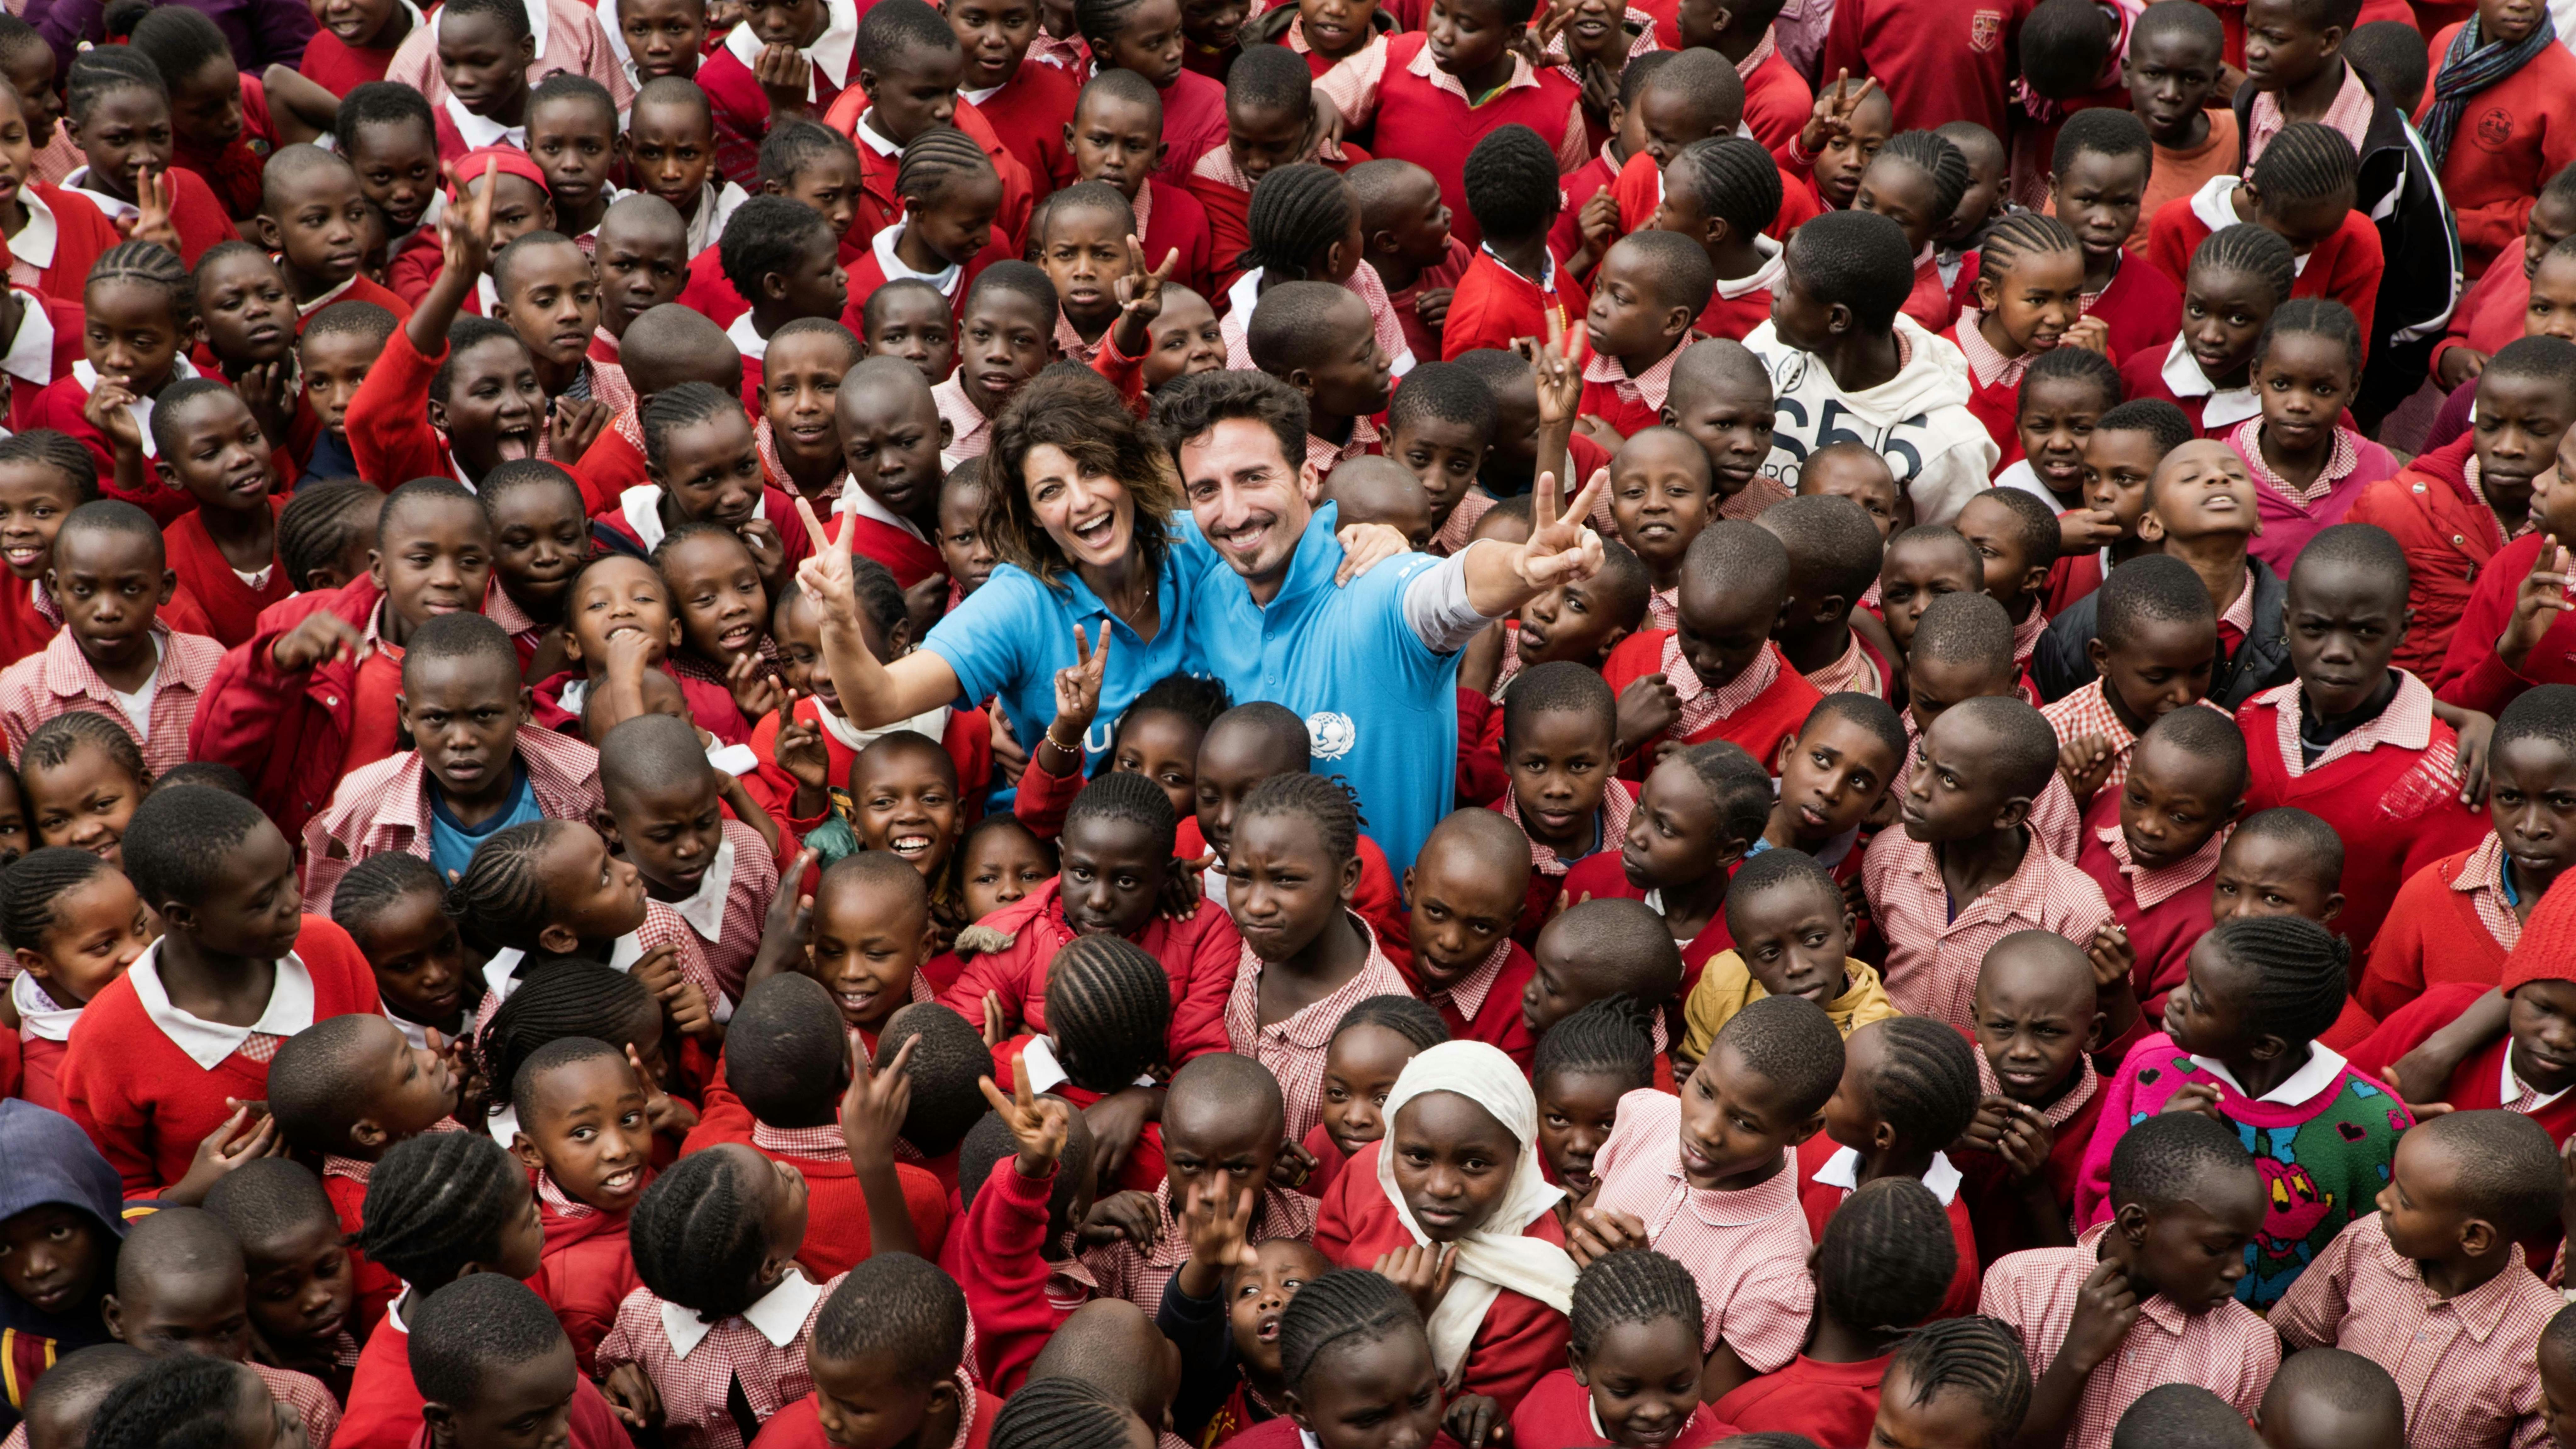
[[1515,1444],[1703,1449],[1739,1431],[1700,1403],[1700,1289],[1654,1248],[1584,1266],[1566,1354],[1512,1408]]

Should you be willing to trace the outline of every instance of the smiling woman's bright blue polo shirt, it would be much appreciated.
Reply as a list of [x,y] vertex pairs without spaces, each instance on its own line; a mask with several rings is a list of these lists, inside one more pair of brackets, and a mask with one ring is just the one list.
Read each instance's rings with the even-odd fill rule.
[[[1136,518],[1149,529],[1146,518]],[[1195,544],[1195,552],[1185,552]],[[1038,737],[1056,719],[1056,670],[1074,665],[1074,629],[1087,639],[1100,639],[1100,624],[1110,627],[1110,663],[1100,676],[1100,714],[1082,740],[1084,771],[1100,763],[1110,748],[1110,727],[1149,683],[1167,673],[1190,668],[1190,614],[1213,552],[1198,541],[1198,526],[1182,516],[1172,523],[1172,549],[1162,559],[1154,596],[1162,601],[1162,627],[1151,639],[1110,614],[1100,596],[1072,570],[1054,588],[1038,575],[999,565],[984,588],[966,596],[948,616],[930,627],[922,647],[948,660],[958,676],[961,709],[999,696],[1002,714],[1020,748],[1036,753]],[[1224,567],[1224,565],[1218,565]],[[1236,588],[1239,593],[1242,588]]]

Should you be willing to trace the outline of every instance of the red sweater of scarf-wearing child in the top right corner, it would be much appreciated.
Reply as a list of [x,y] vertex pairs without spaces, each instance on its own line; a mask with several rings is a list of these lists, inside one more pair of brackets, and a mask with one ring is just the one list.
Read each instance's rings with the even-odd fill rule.
[[[2460,26],[2447,26],[2427,46],[2434,70],[2458,34]],[[2432,103],[2427,85],[2416,124],[2432,113]],[[2532,199],[2568,162],[2576,162],[2576,54],[2540,46],[2522,70],[2468,98],[2450,155],[2442,157],[2442,196],[2460,217],[2468,276],[2483,276],[2488,263],[2522,240]],[[2504,260],[2512,266],[2519,258]]]

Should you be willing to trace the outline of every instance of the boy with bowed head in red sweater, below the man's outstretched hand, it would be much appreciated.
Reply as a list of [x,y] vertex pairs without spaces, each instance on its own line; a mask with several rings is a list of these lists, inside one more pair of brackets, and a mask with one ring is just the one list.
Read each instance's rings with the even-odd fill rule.
[[1780,647],[1772,624],[1788,596],[1788,547],[1757,523],[1710,523],[1682,557],[1680,629],[1631,634],[1602,676],[1620,691],[1618,758],[1628,779],[1664,743],[1731,740],[1762,768],[1821,694]]

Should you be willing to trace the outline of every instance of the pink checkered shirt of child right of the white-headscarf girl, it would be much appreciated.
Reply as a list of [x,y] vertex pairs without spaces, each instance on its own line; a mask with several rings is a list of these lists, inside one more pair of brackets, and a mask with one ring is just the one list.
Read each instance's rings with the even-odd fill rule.
[[1723,1341],[1759,1374],[1798,1356],[1816,1307],[1806,1271],[1814,1240],[1798,1212],[1798,1165],[1744,1191],[1695,1189],[1682,1176],[1682,1098],[1638,1088],[1618,1098],[1618,1127],[1592,1158],[1592,1207],[1646,1225],[1646,1243],[1700,1284],[1700,1348]]

